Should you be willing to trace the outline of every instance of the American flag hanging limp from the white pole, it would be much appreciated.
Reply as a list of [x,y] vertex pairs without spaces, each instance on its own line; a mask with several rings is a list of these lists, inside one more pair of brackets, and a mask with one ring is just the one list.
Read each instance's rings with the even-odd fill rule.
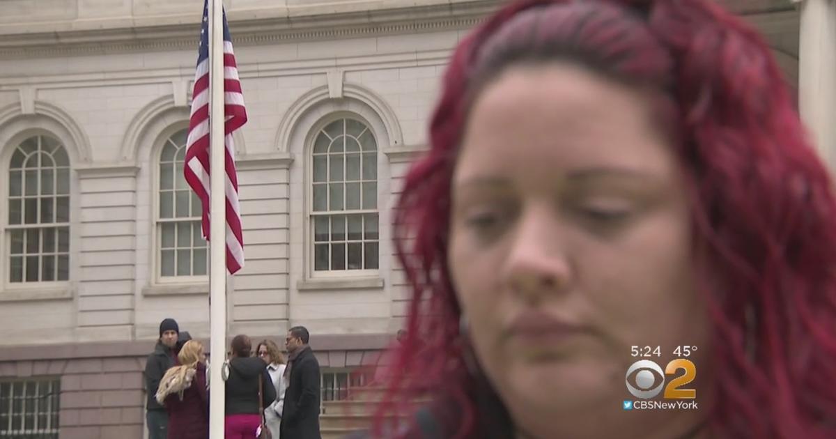
[[[227,14],[223,14],[223,87],[224,145],[226,146],[227,178],[227,270],[233,274],[244,266],[244,239],[241,231],[241,207],[238,203],[238,179],[235,172],[235,149],[232,132],[247,123],[244,95],[238,80],[232,38],[229,37]],[[186,164],[183,174],[203,205],[203,237],[209,240],[209,3],[203,2],[201,43],[197,52],[195,87],[192,91],[189,137],[186,141]]]

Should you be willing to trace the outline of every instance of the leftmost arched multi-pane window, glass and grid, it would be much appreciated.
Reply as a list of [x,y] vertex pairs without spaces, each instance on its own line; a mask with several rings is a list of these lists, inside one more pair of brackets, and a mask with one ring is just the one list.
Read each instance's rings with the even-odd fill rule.
[[8,168],[8,282],[69,280],[69,157],[64,145],[34,135]]

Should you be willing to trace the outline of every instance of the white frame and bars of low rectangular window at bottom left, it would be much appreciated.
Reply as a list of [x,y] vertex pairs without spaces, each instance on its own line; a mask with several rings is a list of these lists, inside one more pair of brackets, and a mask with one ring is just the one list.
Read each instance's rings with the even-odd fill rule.
[[[25,439],[27,437],[41,437],[43,435],[53,435],[56,439],[59,437],[59,427],[60,427],[60,422],[61,422],[60,421],[60,416],[59,416],[60,411],[61,411],[61,401],[60,401],[61,400],[61,380],[60,380],[59,377],[38,377],[38,378],[30,378],[30,379],[23,379],[23,380],[22,379],[11,379],[11,380],[6,379],[6,380],[0,380],[0,384],[8,385],[8,394],[7,395],[0,394],[0,397],[4,397],[4,398],[9,399],[8,411],[7,411],[7,414],[9,415],[9,418],[7,420],[6,425],[0,424],[0,439],[6,439],[6,438],[11,439],[13,437],[22,437],[23,439]],[[34,410],[33,421],[34,421],[35,425],[33,427],[38,426],[38,428],[26,429],[25,428],[26,426],[23,425],[23,422],[26,419],[26,413],[27,413],[26,409],[30,407],[30,404],[22,404],[23,409],[24,409],[23,412],[13,413],[13,409],[14,409],[13,391],[14,391],[14,386],[18,385],[18,384],[23,384],[23,399],[24,399],[24,401],[32,401],[33,402],[33,404],[31,404],[31,406],[33,406],[32,409]],[[51,391],[49,391],[49,393],[46,395],[46,398],[44,398],[46,401],[43,401],[43,403],[48,404],[45,411],[43,411],[43,413],[47,416],[47,426],[44,426],[43,428],[38,425],[39,424],[38,412],[41,411],[41,409],[43,408],[43,407],[41,407],[42,399],[41,398],[26,398],[26,395],[28,393],[27,392],[28,387],[32,386],[32,385],[35,388],[35,391],[34,391],[35,396],[37,396],[38,393],[40,393],[41,385],[48,385],[48,387],[52,388]],[[0,386],[0,388],[2,388],[2,387],[3,386]],[[0,392],[2,392],[2,391],[0,391]],[[12,424],[13,415],[18,415],[18,416],[22,417],[22,419],[20,421],[21,421],[21,426],[24,427],[24,428],[22,428],[21,430],[11,430],[11,426],[13,425]],[[53,421],[55,421],[55,422],[53,423]]]

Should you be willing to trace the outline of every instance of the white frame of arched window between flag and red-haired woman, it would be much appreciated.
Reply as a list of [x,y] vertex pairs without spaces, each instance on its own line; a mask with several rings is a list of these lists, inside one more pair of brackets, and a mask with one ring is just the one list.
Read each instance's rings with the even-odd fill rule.
[[[352,211],[328,211],[322,212],[322,216],[334,216],[334,215],[353,215],[353,214],[371,214],[374,213],[377,215],[378,220],[378,250],[377,250],[377,267],[378,268],[360,268],[360,269],[344,269],[344,270],[323,270],[317,271],[314,269],[314,264],[316,263],[315,258],[315,242],[314,242],[314,218],[320,215],[314,215],[314,143],[316,142],[317,138],[319,137],[319,133],[325,129],[326,126],[330,125],[334,121],[337,120],[356,120],[359,123],[363,124],[366,127],[366,130],[369,130],[372,137],[375,139],[375,184],[376,184],[376,191],[375,197],[377,197],[376,208],[374,210],[368,209],[360,209],[360,210],[352,210]],[[361,151],[362,151],[362,145]],[[308,131],[308,138],[306,140],[306,147],[305,147],[305,220],[304,220],[304,227],[305,227],[305,272],[306,278],[308,279],[344,279],[344,278],[379,278],[380,277],[380,265],[381,265],[381,255],[383,253],[383,246],[381,242],[381,229],[383,225],[381,223],[381,209],[380,209],[380,137],[374,130],[373,125],[369,122],[369,120],[365,120],[360,115],[348,112],[348,111],[337,111],[333,114],[328,115],[327,117],[319,120],[317,124],[313,126],[313,128]],[[361,163],[362,163],[362,156],[361,156]],[[362,172],[362,170],[361,170]],[[343,174],[345,178],[345,174]],[[362,180],[362,174],[360,176]],[[362,187],[360,189],[362,194]],[[361,195],[362,197],[362,195]],[[348,225],[346,224],[346,242],[348,242]],[[330,242],[330,240],[329,240]],[[365,241],[361,241],[365,242]],[[346,266],[348,265],[348,258],[346,257]]]

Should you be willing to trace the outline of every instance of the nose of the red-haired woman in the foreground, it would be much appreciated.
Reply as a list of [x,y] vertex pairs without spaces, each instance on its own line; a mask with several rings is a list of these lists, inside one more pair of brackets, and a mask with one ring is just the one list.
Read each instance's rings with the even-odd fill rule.
[[571,280],[562,227],[556,215],[545,208],[525,212],[512,237],[502,278],[509,291],[529,303],[562,292]]

